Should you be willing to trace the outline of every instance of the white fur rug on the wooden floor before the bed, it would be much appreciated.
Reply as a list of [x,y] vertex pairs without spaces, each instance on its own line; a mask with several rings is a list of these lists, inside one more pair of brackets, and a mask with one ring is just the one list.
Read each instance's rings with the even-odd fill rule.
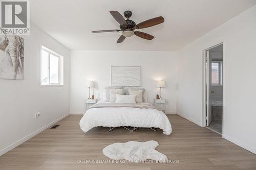
[[150,140],[146,142],[129,141],[126,143],[113,143],[103,149],[103,154],[110,159],[125,159],[129,161],[167,160],[167,156],[156,151],[158,142]]

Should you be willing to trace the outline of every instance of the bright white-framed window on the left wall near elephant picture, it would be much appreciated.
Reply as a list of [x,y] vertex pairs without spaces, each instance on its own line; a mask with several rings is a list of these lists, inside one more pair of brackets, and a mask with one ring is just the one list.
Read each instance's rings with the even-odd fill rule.
[[41,47],[41,85],[63,85],[63,57]]

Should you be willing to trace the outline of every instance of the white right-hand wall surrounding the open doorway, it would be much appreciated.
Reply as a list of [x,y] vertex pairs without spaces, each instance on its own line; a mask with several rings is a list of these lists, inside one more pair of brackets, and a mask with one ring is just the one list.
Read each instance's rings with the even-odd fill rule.
[[178,52],[177,111],[202,125],[202,51],[223,42],[224,138],[256,153],[256,6]]

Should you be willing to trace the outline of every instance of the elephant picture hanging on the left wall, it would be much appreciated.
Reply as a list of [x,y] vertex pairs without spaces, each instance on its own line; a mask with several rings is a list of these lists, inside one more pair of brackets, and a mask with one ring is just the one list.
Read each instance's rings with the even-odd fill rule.
[[0,79],[24,80],[24,38],[0,36]]

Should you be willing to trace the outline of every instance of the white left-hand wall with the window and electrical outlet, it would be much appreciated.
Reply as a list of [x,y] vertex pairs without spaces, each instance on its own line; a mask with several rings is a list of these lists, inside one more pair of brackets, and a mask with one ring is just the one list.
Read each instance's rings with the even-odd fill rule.
[[[20,139],[69,114],[70,50],[32,24],[24,39],[25,80],[0,79],[0,155]],[[64,57],[63,87],[40,87],[41,45]],[[41,115],[35,119],[38,111]]]

